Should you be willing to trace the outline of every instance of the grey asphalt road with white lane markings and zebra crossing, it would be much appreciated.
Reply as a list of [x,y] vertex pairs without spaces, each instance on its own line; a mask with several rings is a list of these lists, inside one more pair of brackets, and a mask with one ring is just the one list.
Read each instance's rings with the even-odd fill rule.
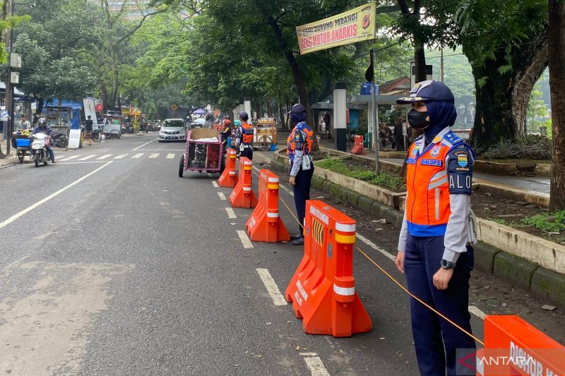
[[[218,193],[231,190],[213,186],[216,176],[179,178],[183,149],[131,135],[57,152],[56,165],[0,170],[0,375],[417,375],[398,286],[355,253],[355,289],[374,329],[304,334],[263,282],[267,273],[284,293],[302,248],[246,248],[237,231],[251,210],[227,211]],[[256,153],[256,171],[267,155]],[[280,198],[292,209],[289,192]],[[283,205],[280,216],[295,233]],[[357,244],[403,282],[390,259],[398,234],[363,220]],[[472,293],[479,338],[497,298]],[[560,332],[561,315],[508,301]]]

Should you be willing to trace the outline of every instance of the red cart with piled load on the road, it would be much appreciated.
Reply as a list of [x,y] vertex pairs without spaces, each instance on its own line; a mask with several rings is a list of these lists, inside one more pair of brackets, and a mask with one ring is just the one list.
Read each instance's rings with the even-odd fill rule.
[[179,178],[184,171],[221,172],[222,141],[212,128],[194,128],[186,132],[186,150],[179,162]]

